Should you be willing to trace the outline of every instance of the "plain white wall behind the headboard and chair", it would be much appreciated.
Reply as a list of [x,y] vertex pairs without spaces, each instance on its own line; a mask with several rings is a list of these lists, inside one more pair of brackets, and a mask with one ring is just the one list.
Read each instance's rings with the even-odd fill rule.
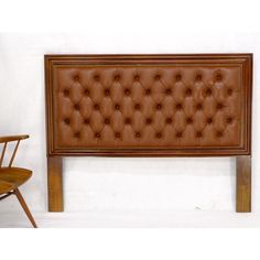
[[[34,172],[22,188],[32,210],[47,210],[44,54],[229,52],[254,55],[252,214],[258,214],[260,34],[0,34],[0,136],[31,136],[21,143],[15,163]],[[235,210],[235,160],[230,158],[69,158],[64,165],[67,213]],[[0,214],[12,210],[20,210],[13,198],[1,202]]]

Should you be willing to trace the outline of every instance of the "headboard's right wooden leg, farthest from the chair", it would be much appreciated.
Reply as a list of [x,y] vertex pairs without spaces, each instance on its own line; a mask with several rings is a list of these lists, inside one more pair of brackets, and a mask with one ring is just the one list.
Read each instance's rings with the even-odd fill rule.
[[251,212],[251,156],[237,156],[237,213]]

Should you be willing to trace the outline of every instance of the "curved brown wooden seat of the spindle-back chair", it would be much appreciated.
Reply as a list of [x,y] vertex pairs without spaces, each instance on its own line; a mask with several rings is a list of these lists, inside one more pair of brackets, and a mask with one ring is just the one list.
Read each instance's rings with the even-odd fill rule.
[[[21,186],[23,183],[25,183],[30,177],[32,176],[32,171],[22,169],[22,167],[1,167],[0,169],[0,182],[4,182],[2,184],[2,189],[6,189],[9,185],[11,185],[11,189],[8,192]],[[1,185],[0,185],[0,194],[3,194],[6,192],[2,192]]]

